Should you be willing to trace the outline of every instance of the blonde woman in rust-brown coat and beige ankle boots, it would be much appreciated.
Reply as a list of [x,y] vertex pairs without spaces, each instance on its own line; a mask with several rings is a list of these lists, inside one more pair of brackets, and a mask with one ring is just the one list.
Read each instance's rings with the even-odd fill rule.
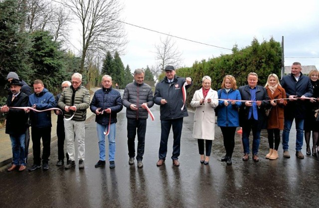
[[284,129],[284,106],[287,104],[287,100],[283,99],[286,99],[287,96],[276,74],[268,76],[265,88],[267,89],[269,99],[272,100],[270,101],[271,110],[267,120],[269,153],[266,155],[266,159],[276,160],[280,144],[280,130]]

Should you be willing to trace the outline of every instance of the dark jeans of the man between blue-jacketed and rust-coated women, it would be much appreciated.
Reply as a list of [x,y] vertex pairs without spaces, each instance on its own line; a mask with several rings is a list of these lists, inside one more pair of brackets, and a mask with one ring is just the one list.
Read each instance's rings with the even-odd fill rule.
[[249,134],[250,131],[253,131],[253,154],[258,154],[259,143],[260,143],[260,131],[258,127],[258,121],[255,119],[247,120],[247,124],[243,126],[243,135],[242,135],[242,142],[244,147],[244,153],[249,154]]

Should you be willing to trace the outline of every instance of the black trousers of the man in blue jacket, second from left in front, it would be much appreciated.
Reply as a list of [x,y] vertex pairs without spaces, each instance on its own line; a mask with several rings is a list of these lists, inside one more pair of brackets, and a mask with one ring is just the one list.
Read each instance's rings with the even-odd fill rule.
[[50,157],[51,127],[37,128],[31,127],[33,162],[35,165],[41,164],[41,138],[43,145],[42,163],[48,163]]

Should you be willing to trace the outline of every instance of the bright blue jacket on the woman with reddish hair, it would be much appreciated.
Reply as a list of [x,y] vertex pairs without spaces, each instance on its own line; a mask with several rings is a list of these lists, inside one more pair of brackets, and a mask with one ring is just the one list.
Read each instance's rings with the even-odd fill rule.
[[[230,89],[227,93],[225,89],[221,89],[217,92],[218,99],[226,100],[241,100],[241,96],[238,90]],[[229,104],[225,106],[224,101],[218,102],[218,115],[217,115],[217,125],[218,126],[239,126],[239,113],[238,108],[241,106],[241,102],[236,102],[236,104]]]

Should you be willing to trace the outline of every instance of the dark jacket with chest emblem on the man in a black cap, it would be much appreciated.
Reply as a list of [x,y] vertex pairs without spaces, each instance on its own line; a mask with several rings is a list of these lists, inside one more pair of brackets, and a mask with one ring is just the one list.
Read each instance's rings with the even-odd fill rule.
[[[182,87],[185,83],[185,78],[174,77],[171,84],[168,83],[167,77],[161,80],[155,88],[154,103],[160,105],[160,120],[176,119],[188,116],[186,104],[183,106]],[[193,82],[193,81],[192,81]],[[187,90],[190,85],[186,85]],[[160,104],[160,100],[165,99],[166,104]]]

